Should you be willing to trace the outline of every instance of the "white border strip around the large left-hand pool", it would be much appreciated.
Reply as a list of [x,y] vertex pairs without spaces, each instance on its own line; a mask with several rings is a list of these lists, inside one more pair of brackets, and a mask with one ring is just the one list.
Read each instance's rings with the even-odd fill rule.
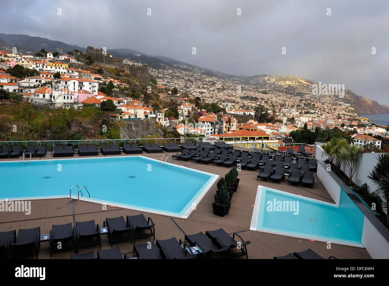
[[[105,158],[129,158],[129,157],[141,157],[141,158],[145,158],[147,160],[153,160],[153,161],[156,161],[156,162],[160,162],[160,160],[157,160],[157,159],[154,159],[154,158],[149,158],[149,157],[145,157],[145,156],[141,156],[141,155],[133,155],[133,156],[110,156],[110,157],[90,157],[90,158],[63,158],[63,159],[44,159],[44,160],[34,160],[34,161],[59,161],[59,160],[88,160],[88,159],[105,159]],[[3,161],[3,162],[0,162],[0,163],[15,163],[15,162],[22,162],[22,161]],[[183,168],[183,169],[187,169],[187,170],[190,170],[192,172],[198,172],[198,173],[202,173],[202,174],[206,174],[206,175],[210,175],[212,176],[212,180],[209,182],[209,184],[207,184],[207,186],[205,186],[204,190],[200,193],[200,195],[197,196],[195,202],[193,202],[195,205],[198,205],[200,203],[200,201],[202,200],[202,198],[205,196],[205,194],[209,191],[209,189],[211,188],[211,186],[216,182],[216,180],[219,178],[219,175],[216,175],[216,174],[212,174],[212,173],[208,173],[208,172],[204,172],[204,171],[200,171],[200,170],[196,170],[196,169],[193,169],[193,168],[189,168],[189,167],[185,167],[185,166],[180,166],[180,165],[175,165],[173,163],[169,163],[169,162],[163,162],[164,164],[168,164],[168,165],[172,165],[174,167],[178,167],[178,168]],[[45,199],[52,199],[52,198],[69,198],[69,196],[66,196],[66,195],[58,195],[58,196],[49,196],[49,197],[25,197],[25,198],[4,198],[4,199],[0,199],[0,200],[8,200],[8,201],[14,201],[14,200],[45,200]],[[74,200],[77,200],[77,196],[75,195],[72,195],[72,199]],[[193,209],[191,206],[189,206],[189,208],[187,209],[187,211],[184,213],[184,215],[182,216],[179,216],[177,214],[173,214],[173,213],[168,213],[168,212],[161,212],[161,211],[157,211],[157,210],[154,210],[154,209],[144,209],[144,208],[140,208],[140,207],[129,207],[127,205],[121,205],[121,204],[117,204],[116,202],[104,202],[104,201],[100,201],[100,200],[91,200],[91,199],[88,199],[88,198],[84,198],[84,197],[81,197],[80,200],[82,201],[85,201],[85,202],[91,202],[91,203],[95,203],[95,204],[105,204],[105,205],[114,205],[115,207],[121,207],[123,209],[131,209],[131,210],[135,210],[135,211],[141,211],[141,212],[151,212],[153,214],[161,214],[161,215],[164,215],[164,216],[173,216],[175,218],[182,218],[182,219],[187,219],[189,214],[191,214],[192,211],[194,211],[195,209]],[[189,202],[188,202],[189,203]],[[193,204],[192,203],[192,204]]]

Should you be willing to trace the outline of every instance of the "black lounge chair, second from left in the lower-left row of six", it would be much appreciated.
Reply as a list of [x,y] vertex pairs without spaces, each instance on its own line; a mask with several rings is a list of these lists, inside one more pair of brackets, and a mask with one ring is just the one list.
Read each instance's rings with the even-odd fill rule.
[[38,259],[40,248],[40,227],[19,229],[16,239],[11,238],[11,258],[36,255]]

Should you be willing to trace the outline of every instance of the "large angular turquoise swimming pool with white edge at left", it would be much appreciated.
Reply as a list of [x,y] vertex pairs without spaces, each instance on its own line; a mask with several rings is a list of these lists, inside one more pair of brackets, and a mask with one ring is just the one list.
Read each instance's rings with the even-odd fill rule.
[[[187,218],[218,175],[143,156],[0,163],[0,200],[69,197]],[[77,188],[72,198],[77,198]]]

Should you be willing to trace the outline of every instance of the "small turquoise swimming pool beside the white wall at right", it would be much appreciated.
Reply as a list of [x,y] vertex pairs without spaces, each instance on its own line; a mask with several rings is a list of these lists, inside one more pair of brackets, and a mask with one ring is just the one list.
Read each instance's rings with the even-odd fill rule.
[[250,229],[363,247],[363,219],[343,190],[337,206],[258,186]]

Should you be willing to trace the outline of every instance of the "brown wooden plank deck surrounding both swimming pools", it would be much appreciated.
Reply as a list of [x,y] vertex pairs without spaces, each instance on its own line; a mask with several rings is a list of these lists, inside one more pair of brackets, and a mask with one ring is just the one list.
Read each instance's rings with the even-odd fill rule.
[[[164,152],[164,154],[172,155],[175,153]],[[141,155],[160,160],[163,156],[163,153],[148,154],[144,152]],[[99,153],[99,157],[102,156],[103,155]],[[130,155],[122,153],[122,155],[119,156]],[[79,158],[79,155],[75,154],[74,157],[68,158]],[[83,158],[88,157],[86,156]],[[46,158],[44,157],[42,159],[54,158],[52,154],[47,154]],[[6,160],[10,161],[18,159]],[[21,158],[19,158],[19,160],[21,160]],[[40,159],[33,158],[32,160]],[[4,159],[2,161],[4,161]],[[173,163],[223,176],[229,170],[229,168],[212,166],[212,164],[204,165],[195,162],[191,163],[190,160],[177,161],[173,159]],[[115,170],[115,172],[120,172],[120,170]],[[207,230],[224,228],[224,230],[226,230],[228,233],[239,232],[239,235],[241,235],[244,240],[251,241],[251,244],[247,246],[249,258],[251,259],[272,259],[274,256],[283,256],[288,253],[304,251],[308,248],[314,250],[324,258],[328,258],[329,256],[336,256],[337,258],[343,259],[371,258],[366,249],[361,247],[352,247],[333,243],[331,244],[331,249],[328,249],[326,242],[310,241],[307,239],[250,231],[249,229],[253,205],[259,184],[269,188],[279,189],[281,191],[315,198],[317,200],[323,200],[325,202],[333,202],[331,196],[328,194],[321,181],[317,177],[315,177],[314,188],[311,189],[291,185],[287,186],[286,180],[280,184],[275,182],[265,182],[262,180],[257,181],[257,174],[258,172],[256,170],[242,170],[239,172],[240,183],[238,190],[232,197],[229,214],[223,218],[214,215],[212,211],[212,202],[214,202],[214,194],[216,193],[216,183],[210,188],[207,194],[196,206],[196,209],[189,215],[187,219],[144,213],[145,217],[147,218],[150,216],[156,225],[156,240],[169,239],[171,237],[176,237],[177,240],[184,240],[185,234],[193,234],[198,232],[205,233]],[[23,174],[20,174],[20,178],[23,179]],[[101,178],[96,176],[96,179]],[[169,182],[161,182],[161,184],[164,183],[168,184]],[[185,184],[182,185],[182,188],[185,188]],[[72,223],[74,226],[76,221],[89,221],[92,219],[94,219],[96,223],[99,223],[100,226],[103,226],[103,221],[105,221],[105,218],[114,218],[118,216],[123,216],[125,218],[127,215],[142,213],[140,211],[109,206],[107,207],[107,210],[103,210],[102,205],[100,204],[84,201],[77,202],[77,200],[69,200],[68,198],[32,200],[31,208],[32,210],[30,215],[25,215],[21,212],[1,212],[0,232],[14,229],[16,229],[16,232],[18,232],[19,228],[33,228],[40,226],[40,232],[43,234],[49,233],[52,225]],[[150,240],[152,240],[152,237],[138,239],[137,243],[145,243]],[[120,247],[122,254],[129,254],[130,257],[134,256],[132,254],[133,245],[131,244],[131,241],[115,243],[114,247],[115,246]],[[102,235],[102,249],[109,248],[110,244],[107,235]],[[94,251],[95,256],[97,257],[97,249],[98,246],[86,247],[80,249],[80,253]],[[68,259],[70,258],[71,253],[74,252],[68,250],[54,253],[53,258]],[[35,258],[35,256],[30,258]],[[39,258],[50,258],[49,242],[42,242],[40,244]]]

